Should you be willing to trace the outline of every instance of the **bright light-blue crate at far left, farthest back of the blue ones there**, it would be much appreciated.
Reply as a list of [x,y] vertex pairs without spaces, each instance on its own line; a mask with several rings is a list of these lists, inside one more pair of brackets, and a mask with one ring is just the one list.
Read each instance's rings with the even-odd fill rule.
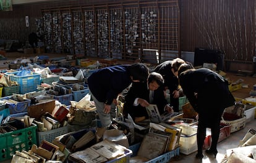
[[19,90],[20,94],[33,92],[36,90],[37,85],[41,84],[39,73],[33,73],[27,76],[15,76],[19,72],[20,71],[15,71],[15,72],[5,73],[5,74],[10,76],[11,81],[18,82],[20,86],[20,90]]

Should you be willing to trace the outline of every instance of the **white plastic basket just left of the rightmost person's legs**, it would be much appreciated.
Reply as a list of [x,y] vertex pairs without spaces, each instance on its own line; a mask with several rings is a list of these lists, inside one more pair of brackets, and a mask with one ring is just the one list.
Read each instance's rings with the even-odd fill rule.
[[197,128],[182,124],[176,124],[175,126],[182,129],[179,138],[181,153],[188,155],[197,151]]

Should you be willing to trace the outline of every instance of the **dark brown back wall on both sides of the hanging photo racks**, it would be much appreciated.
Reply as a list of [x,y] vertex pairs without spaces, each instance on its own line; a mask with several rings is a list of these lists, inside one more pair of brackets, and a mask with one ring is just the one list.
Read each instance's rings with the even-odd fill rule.
[[[0,39],[27,39],[28,33],[36,30],[35,19],[41,17],[41,9],[106,2],[120,1],[64,1],[13,6],[12,12],[0,14]],[[195,47],[218,49],[223,51],[229,63],[234,60],[252,65],[255,55],[255,1],[179,0],[179,12],[181,39],[177,38],[180,45],[178,53],[194,52]],[[25,27],[25,15],[30,17],[28,28]],[[236,65],[238,69],[239,66]]]

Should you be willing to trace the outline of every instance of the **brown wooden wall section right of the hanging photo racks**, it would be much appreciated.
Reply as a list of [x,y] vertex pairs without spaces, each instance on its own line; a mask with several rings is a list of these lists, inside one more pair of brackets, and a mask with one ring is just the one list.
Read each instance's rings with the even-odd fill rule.
[[223,51],[226,60],[252,61],[255,55],[255,1],[182,0],[181,49]]

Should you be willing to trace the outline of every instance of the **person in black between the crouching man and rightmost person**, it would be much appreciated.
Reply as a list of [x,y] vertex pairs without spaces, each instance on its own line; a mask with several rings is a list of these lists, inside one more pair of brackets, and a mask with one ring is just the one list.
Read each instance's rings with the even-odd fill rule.
[[177,79],[177,70],[179,66],[185,63],[181,58],[168,60],[156,66],[153,70],[160,73],[164,78],[164,88],[169,89],[170,105],[173,106],[174,112],[179,113],[179,82]]

